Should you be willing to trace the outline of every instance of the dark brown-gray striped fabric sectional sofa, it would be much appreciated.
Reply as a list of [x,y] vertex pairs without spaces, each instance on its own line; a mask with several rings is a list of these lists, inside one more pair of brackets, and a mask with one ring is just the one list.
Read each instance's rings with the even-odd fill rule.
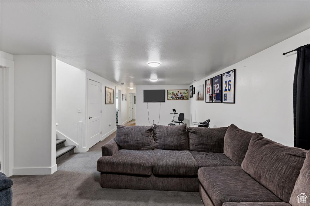
[[210,206],[297,206],[310,195],[309,151],[233,124],[117,126],[97,170],[104,188],[199,191]]

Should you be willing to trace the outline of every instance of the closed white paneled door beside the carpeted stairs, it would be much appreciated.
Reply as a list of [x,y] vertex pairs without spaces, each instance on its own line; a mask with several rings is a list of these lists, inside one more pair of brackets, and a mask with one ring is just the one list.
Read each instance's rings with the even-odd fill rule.
[[101,136],[101,84],[88,79],[87,82],[87,146],[91,148]]

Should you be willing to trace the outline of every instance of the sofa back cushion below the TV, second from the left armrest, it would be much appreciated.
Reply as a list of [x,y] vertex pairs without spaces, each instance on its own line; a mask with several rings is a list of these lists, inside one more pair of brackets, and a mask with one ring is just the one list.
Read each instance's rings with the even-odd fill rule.
[[176,126],[154,124],[153,129],[156,149],[188,150],[186,124]]

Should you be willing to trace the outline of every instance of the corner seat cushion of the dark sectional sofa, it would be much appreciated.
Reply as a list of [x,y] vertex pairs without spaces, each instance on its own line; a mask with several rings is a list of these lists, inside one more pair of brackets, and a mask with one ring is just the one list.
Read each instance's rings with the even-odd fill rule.
[[223,166],[241,166],[223,153],[214,153],[214,152],[196,152],[190,151],[193,155],[193,158],[198,163],[198,167],[223,167]]

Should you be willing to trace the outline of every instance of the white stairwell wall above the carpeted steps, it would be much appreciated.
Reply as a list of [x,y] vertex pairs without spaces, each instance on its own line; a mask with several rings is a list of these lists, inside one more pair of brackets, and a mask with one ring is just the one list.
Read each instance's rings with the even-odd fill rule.
[[[78,113],[78,108],[81,112]],[[82,131],[85,131],[86,117],[86,74],[62,61],[56,60],[56,126],[57,139],[65,138],[66,145],[75,145],[75,152],[86,151],[86,141],[79,142],[79,135],[82,139],[85,134],[78,133],[78,124],[82,122]],[[84,137],[83,137],[84,135]],[[79,148],[80,146],[80,148]]]

